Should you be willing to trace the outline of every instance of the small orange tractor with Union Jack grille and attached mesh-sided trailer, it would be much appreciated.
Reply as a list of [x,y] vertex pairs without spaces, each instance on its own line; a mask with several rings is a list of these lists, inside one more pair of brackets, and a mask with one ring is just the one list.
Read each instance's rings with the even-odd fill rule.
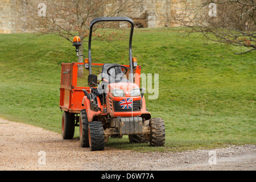
[[[92,63],[93,25],[114,21],[131,24],[129,65]],[[139,88],[141,66],[137,65],[137,58],[131,53],[133,30],[133,20],[127,17],[96,18],[90,23],[88,59],[84,63],[61,64],[63,139],[72,139],[75,126],[79,126],[81,146],[90,147],[92,151],[104,150],[109,137],[121,138],[123,135],[129,135],[130,143],[149,142],[150,146],[164,146],[164,121],[162,118],[151,118],[143,96],[145,89]],[[73,39],[73,46],[76,46],[79,56],[79,36]],[[101,82],[97,75],[101,77]]]

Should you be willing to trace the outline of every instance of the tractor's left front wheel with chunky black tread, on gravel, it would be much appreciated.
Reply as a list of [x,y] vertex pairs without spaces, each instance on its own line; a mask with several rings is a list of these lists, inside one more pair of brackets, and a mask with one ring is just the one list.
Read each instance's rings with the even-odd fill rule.
[[102,122],[92,121],[89,122],[89,145],[91,151],[104,150],[104,129]]

